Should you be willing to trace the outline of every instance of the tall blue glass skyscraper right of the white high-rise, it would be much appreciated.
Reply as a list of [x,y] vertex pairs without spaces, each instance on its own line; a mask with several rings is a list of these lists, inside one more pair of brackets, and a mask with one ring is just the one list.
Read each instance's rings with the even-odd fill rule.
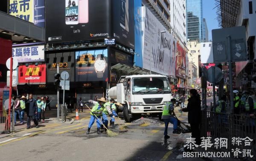
[[202,0],[186,0],[187,39],[204,41]]

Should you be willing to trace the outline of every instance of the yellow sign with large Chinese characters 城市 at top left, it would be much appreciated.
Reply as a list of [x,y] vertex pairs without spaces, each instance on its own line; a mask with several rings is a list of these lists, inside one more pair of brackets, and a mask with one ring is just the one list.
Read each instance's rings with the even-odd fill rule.
[[10,0],[9,14],[34,23],[34,0]]

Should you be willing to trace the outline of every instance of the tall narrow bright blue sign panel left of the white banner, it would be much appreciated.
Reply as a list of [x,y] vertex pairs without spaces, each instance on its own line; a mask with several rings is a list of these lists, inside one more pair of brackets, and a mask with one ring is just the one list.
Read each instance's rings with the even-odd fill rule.
[[143,15],[142,15],[142,0],[134,0],[134,21],[135,21],[135,66],[143,68]]

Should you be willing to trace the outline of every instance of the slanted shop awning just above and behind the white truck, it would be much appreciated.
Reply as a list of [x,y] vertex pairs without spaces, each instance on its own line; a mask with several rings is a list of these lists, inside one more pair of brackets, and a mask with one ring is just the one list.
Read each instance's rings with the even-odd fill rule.
[[[142,69],[140,67],[128,66],[122,63],[118,63],[114,66],[111,66],[111,70],[121,71],[127,73],[128,75],[149,75],[150,71],[146,69]],[[157,74],[155,72],[151,72],[151,74]]]

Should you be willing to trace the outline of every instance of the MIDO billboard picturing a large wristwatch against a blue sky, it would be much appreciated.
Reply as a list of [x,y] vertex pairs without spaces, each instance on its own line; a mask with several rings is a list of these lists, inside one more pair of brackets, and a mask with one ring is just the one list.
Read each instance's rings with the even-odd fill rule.
[[76,52],[76,82],[105,81],[108,78],[108,49]]

